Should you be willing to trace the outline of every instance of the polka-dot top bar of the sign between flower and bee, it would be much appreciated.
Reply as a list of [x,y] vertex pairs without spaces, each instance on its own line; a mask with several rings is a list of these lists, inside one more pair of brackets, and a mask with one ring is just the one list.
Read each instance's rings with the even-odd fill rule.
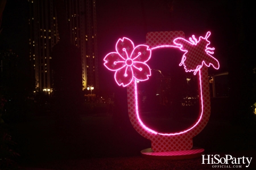
[[146,44],[150,48],[159,45],[174,45],[174,39],[177,37],[185,38],[185,33],[183,31],[148,32],[146,35]]

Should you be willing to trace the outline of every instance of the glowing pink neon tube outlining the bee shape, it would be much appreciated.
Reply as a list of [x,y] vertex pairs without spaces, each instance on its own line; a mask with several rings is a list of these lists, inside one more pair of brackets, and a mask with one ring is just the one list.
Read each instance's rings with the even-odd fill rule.
[[[202,67],[204,64],[205,64],[205,66],[207,66],[207,67],[209,67],[210,65],[212,65],[213,68],[216,69],[216,70],[218,70],[218,69],[220,68],[220,63],[218,62],[218,60],[217,60],[216,58],[214,58],[213,56],[210,55],[210,54],[214,54],[214,52],[211,52],[211,51],[209,51],[209,50],[214,50],[214,48],[209,48],[209,47],[208,47],[208,45],[210,44],[210,41],[208,40],[208,37],[209,37],[209,36],[210,36],[210,31],[207,32],[207,34],[205,35],[205,37],[200,36],[198,41],[197,41],[195,35],[192,35],[193,40],[192,40],[191,37],[189,37],[189,41],[187,41],[187,40],[185,40],[185,39],[183,39],[183,38],[180,38],[180,37],[174,39],[174,44],[178,45],[179,48],[180,48],[180,50],[183,51],[183,52],[185,52],[185,53],[183,54],[183,57],[182,57],[182,59],[181,59],[181,62],[180,62],[180,64],[179,64],[179,66],[183,65],[186,72],[194,71],[193,74],[196,75],[197,71],[199,71],[199,70],[201,69],[201,67]],[[205,63],[205,61],[203,60],[203,61],[201,62],[201,65],[197,66],[195,70],[187,70],[186,67],[185,67],[185,65],[184,65],[184,61],[185,61],[185,59],[186,59],[185,54],[187,54],[188,50],[182,49],[182,48],[183,48],[183,45],[181,45],[181,44],[175,42],[175,40],[177,40],[177,39],[183,39],[184,41],[187,41],[189,44],[192,44],[192,45],[197,45],[197,43],[198,43],[201,39],[204,39],[205,41],[207,41],[207,42],[208,42],[208,44],[207,44],[207,46],[206,46],[207,48],[206,48],[204,51],[205,51],[210,57],[212,57],[213,59],[215,59],[215,60],[217,61],[218,67],[214,67],[214,65],[213,65],[212,63],[209,63],[209,65],[207,65],[207,64]]]

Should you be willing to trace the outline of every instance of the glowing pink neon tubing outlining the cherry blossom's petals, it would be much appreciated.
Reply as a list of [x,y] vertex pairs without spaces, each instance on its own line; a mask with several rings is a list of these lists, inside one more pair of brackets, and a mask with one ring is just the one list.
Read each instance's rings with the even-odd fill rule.
[[[118,42],[119,42],[119,41],[122,41],[122,42],[123,42],[125,39],[129,40],[129,41],[131,42],[131,44],[133,45],[133,51],[131,52],[131,55],[130,55],[130,56],[128,56],[128,54],[127,54],[127,52],[126,52],[126,48],[122,48],[122,51],[126,53],[126,56],[127,56],[126,59],[123,58],[122,55],[118,53]],[[149,54],[149,57],[148,57],[147,60],[144,61],[144,62],[136,61],[136,59],[137,59],[139,56],[141,56],[141,52],[139,52],[138,55],[133,58],[134,50],[137,49],[137,47],[139,47],[139,46],[146,46],[147,52],[150,53],[150,54]],[[108,54],[105,56],[105,58],[104,58],[104,61],[105,61],[104,65],[105,65],[105,67],[106,67],[108,70],[110,70],[110,71],[115,71],[114,79],[115,79],[115,82],[118,84],[118,86],[126,87],[126,86],[128,86],[131,82],[133,82],[133,79],[137,79],[137,80],[139,80],[139,81],[145,81],[145,80],[148,80],[148,79],[149,79],[149,76],[151,76],[151,69],[150,69],[150,67],[147,65],[146,62],[151,58],[151,49],[149,48],[148,45],[142,45],[142,44],[141,44],[141,45],[137,45],[137,46],[134,47],[133,41],[131,41],[131,40],[128,39],[127,37],[123,37],[123,39],[118,39],[117,43],[115,44],[115,51],[116,51],[116,52],[108,53]],[[123,63],[123,66],[120,67],[119,69],[109,69],[109,67],[106,66],[106,63],[108,63],[106,57],[109,56],[110,54],[118,55],[119,57],[121,57],[121,59],[123,59],[123,61],[115,61],[115,62],[113,62],[114,65],[116,65],[117,63]],[[133,62],[132,62],[132,65],[127,65],[127,63],[126,63],[127,59],[131,59],[131,60],[133,61]],[[136,63],[141,63],[141,64],[143,64],[143,65],[145,65],[145,66],[148,67],[149,73],[147,73],[147,75],[146,75],[147,78],[146,78],[146,79],[138,79],[138,78],[136,78],[136,77],[134,76],[134,74],[133,74],[133,73],[134,73],[133,67],[134,67],[135,69],[138,69],[139,71],[142,71],[142,68],[141,68],[141,67],[136,67],[136,66],[135,66]],[[128,67],[130,67],[130,69],[131,69],[131,74],[133,75],[133,76],[132,76],[133,78],[131,79],[130,83],[127,83],[127,84],[118,83],[118,80],[116,79],[117,71],[123,69],[124,67],[126,67],[126,69],[125,69],[125,75],[124,75],[124,76],[127,76],[126,71],[127,71]]]

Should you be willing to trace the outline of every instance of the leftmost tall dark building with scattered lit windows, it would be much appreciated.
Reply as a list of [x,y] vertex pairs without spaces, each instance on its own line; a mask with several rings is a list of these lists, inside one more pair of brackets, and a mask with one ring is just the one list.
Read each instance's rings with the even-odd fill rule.
[[59,41],[52,0],[29,0],[30,61],[37,90],[51,89],[51,50]]

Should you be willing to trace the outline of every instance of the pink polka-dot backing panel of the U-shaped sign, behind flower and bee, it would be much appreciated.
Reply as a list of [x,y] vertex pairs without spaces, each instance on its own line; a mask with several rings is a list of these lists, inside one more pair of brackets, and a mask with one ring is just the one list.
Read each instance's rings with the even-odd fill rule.
[[[153,48],[163,42],[167,45],[173,45],[172,40],[174,40],[176,37],[182,36],[184,36],[184,33],[182,31],[149,32],[147,33],[146,44],[149,45],[150,48]],[[196,61],[191,60],[190,62]],[[133,81],[133,83],[127,86],[127,104],[130,122],[133,125],[134,129],[137,130],[139,134],[141,134],[144,138],[150,139],[151,148],[153,151],[167,152],[190,150],[193,147],[192,138],[199,134],[200,131],[203,130],[204,127],[207,125],[207,122],[210,117],[210,97],[207,66],[201,67],[200,71],[197,72],[197,75],[201,80],[199,80],[200,113],[203,108],[203,113],[200,114],[201,120],[193,129],[179,135],[155,134],[145,129],[145,126],[137,117],[137,110],[139,106],[137,105],[137,92],[135,91],[136,82]],[[202,100],[201,94],[203,95]]]

